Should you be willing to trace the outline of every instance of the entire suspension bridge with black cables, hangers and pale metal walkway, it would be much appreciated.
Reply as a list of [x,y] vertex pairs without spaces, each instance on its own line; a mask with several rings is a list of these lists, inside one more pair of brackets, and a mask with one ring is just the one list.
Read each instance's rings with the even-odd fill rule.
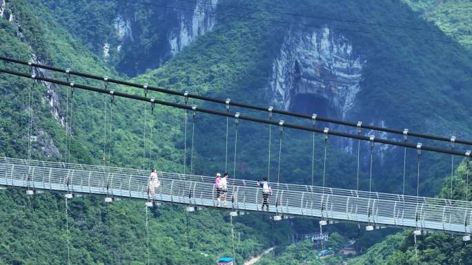
[[[313,132],[313,139],[315,134],[324,135],[323,186],[316,187],[313,185],[313,167],[311,185],[279,183],[277,176],[277,183],[272,183],[273,195],[269,197],[270,208],[268,211],[266,211],[266,213],[274,215],[274,220],[281,220],[282,215],[302,216],[321,219],[319,222],[320,227],[326,225],[329,220],[339,220],[346,222],[365,223],[366,230],[368,231],[373,230],[374,226],[400,226],[414,229],[415,236],[420,235],[421,231],[443,231],[444,233],[461,233],[464,235],[464,241],[471,240],[470,234],[472,233],[472,204],[469,202],[468,198],[466,198],[466,200],[452,200],[452,198],[425,198],[419,195],[418,189],[416,196],[378,193],[371,191],[371,187],[369,187],[369,191],[360,191],[358,188],[358,173],[357,189],[334,189],[330,187],[324,187],[324,175],[326,173],[326,142],[328,140],[328,136],[331,135],[352,138],[358,140],[359,143],[361,141],[367,141],[371,143],[370,180],[372,180],[373,145],[375,143],[404,147],[405,150],[409,148],[416,149],[418,186],[420,179],[420,155],[422,151],[447,153],[450,154],[452,158],[454,156],[463,156],[470,160],[471,151],[461,151],[454,149],[455,144],[457,143],[463,145],[472,145],[472,142],[470,141],[461,140],[455,137],[446,138],[442,136],[420,134],[409,131],[408,129],[395,130],[383,127],[375,127],[372,125],[364,125],[361,122],[350,123],[342,120],[318,117],[316,114],[311,116],[295,114],[292,112],[277,110],[273,107],[257,107],[253,105],[246,105],[244,103],[233,102],[229,99],[218,100],[215,98],[189,94],[188,92],[173,92],[171,90],[162,89],[159,87],[150,87],[148,85],[139,85],[125,81],[118,81],[107,77],[94,76],[92,74],[72,72],[70,70],[62,70],[47,65],[28,63],[19,61],[17,59],[9,59],[6,57],[0,57],[0,59],[3,61],[9,61],[10,63],[19,63],[20,65],[27,65],[30,67],[30,73],[28,74],[6,69],[0,69],[0,73],[30,78],[32,81],[55,83],[57,85],[69,87],[69,89],[78,88],[101,94],[108,94],[110,95],[110,104],[112,104],[112,100],[115,98],[115,96],[119,96],[150,103],[153,109],[155,104],[184,109],[186,111],[184,121],[185,129],[187,129],[187,111],[193,112],[194,117],[197,112],[224,116],[227,118],[226,164],[228,160],[228,118],[233,118],[235,120],[236,128],[239,124],[239,120],[250,120],[255,123],[268,125],[269,139],[271,138],[271,127],[280,127],[281,131],[279,145],[282,145],[282,133],[283,128],[285,127],[311,131]],[[67,81],[47,78],[46,76],[35,74],[35,68],[43,68],[45,70],[65,73],[67,76]],[[69,80],[70,75],[104,81],[105,88],[102,89],[98,87],[72,83]],[[117,83],[120,85],[144,89],[144,96],[136,96],[110,90],[107,87],[108,83]],[[182,96],[184,97],[184,104],[148,98],[147,93],[149,90]],[[188,98],[196,98],[199,100],[207,100],[213,103],[224,104],[226,106],[226,112],[219,112],[214,109],[204,109],[197,107],[196,105],[188,105]],[[256,118],[253,116],[243,116],[239,114],[239,112],[232,113],[230,112],[230,106],[268,112],[268,119]],[[32,107],[30,107],[30,111],[32,112]],[[313,125],[303,126],[285,123],[284,120],[273,120],[273,113],[294,116],[296,118],[306,118],[311,120]],[[320,129],[315,126],[317,121],[355,127],[357,128],[357,134],[334,131],[328,128]],[[404,137],[404,141],[387,140],[375,138],[374,136],[364,136],[360,133],[362,129],[400,134]],[[68,128],[67,131],[68,134],[70,134],[70,128]],[[421,143],[410,143],[408,142],[409,136],[415,136],[428,140],[450,142],[452,144],[452,148],[443,149],[439,147],[422,145]],[[270,142],[271,141],[269,140],[269,145]],[[315,148],[314,145],[313,148]],[[187,148],[185,147],[185,149]],[[271,159],[270,153],[268,159]],[[357,159],[357,161],[359,161],[359,154]],[[314,160],[314,158],[312,158],[312,160]],[[359,168],[359,165],[357,167]],[[358,168],[357,172],[359,171]],[[159,172],[158,176],[161,182],[161,187],[154,195],[150,195],[148,193],[148,185],[150,182],[148,171],[143,171],[140,169],[81,165],[72,164],[70,162],[46,162],[32,160],[30,158],[29,150],[28,159],[0,158],[0,185],[5,187],[25,188],[27,189],[28,194],[33,194],[33,191],[35,190],[50,190],[66,192],[66,196],[72,198],[73,193],[89,193],[105,195],[106,202],[111,202],[112,198],[135,198],[146,200],[146,205],[152,205],[149,204],[149,202],[156,200],[160,202],[187,205],[188,211],[192,211],[191,209],[197,206],[228,209],[230,210],[232,216],[246,211],[262,211],[262,190],[257,187],[256,182],[236,179],[230,180],[228,185],[228,202],[222,206],[217,206],[217,195],[215,194],[216,191],[214,178],[190,175],[186,174],[185,171],[184,173]],[[467,177],[468,176],[469,163],[467,163]],[[467,186],[468,185],[467,179]],[[466,190],[467,188],[468,187],[466,187]]]

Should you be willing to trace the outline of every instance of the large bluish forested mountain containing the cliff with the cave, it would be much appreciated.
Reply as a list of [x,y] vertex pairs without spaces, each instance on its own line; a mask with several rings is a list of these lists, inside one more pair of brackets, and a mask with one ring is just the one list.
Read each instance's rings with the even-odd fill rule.
[[[258,8],[267,8],[261,5]],[[274,4],[272,8],[279,8],[280,5]],[[313,3],[297,1],[286,11],[304,13],[302,8],[307,6],[313,6]],[[375,8],[363,8],[365,6]],[[241,10],[235,12],[238,11]],[[357,21],[389,25],[403,23],[437,30],[431,23],[418,18],[408,6],[395,1],[385,1],[382,5],[362,1],[362,5],[356,2],[342,6],[320,1],[317,12],[333,19],[346,19],[346,14],[350,14]],[[380,126],[409,127],[415,131],[470,138],[471,131],[466,124],[470,123],[471,109],[467,105],[471,94],[464,87],[470,81],[472,61],[470,52],[461,45],[452,40],[447,43],[420,40],[427,37],[425,32],[417,32],[414,35],[417,39],[412,39],[407,37],[410,33],[402,28],[374,28],[370,24],[360,23],[346,28],[346,23],[323,21],[324,26],[320,29],[308,26],[319,24],[319,19],[306,17],[299,19],[306,26],[287,27],[273,21],[288,19],[282,14],[259,14],[254,11],[251,15],[266,16],[264,19],[268,21],[250,19],[235,22],[219,15],[213,32],[201,36],[164,67],[144,74],[142,80],[155,80],[164,87],[222,95],[257,105],[275,104],[299,112],[316,112],[347,120],[364,120],[364,123]],[[360,34],[359,31],[373,34]],[[441,37],[449,39],[444,34]],[[345,52],[342,49],[346,49]],[[337,64],[351,66],[333,67]],[[244,130],[246,125],[240,127]],[[200,142],[201,147],[197,145],[201,156],[208,158],[210,167],[215,167],[213,161],[224,159],[224,129],[224,120],[220,119],[211,125],[207,123],[199,131],[198,135],[203,139],[220,136],[219,145],[216,142],[210,145]],[[238,148],[242,154],[238,154],[238,162],[244,167],[239,168],[238,165],[237,171],[243,176],[257,176],[264,173],[259,165],[267,165],[268,131],[266,128],[251,127],[246,132],[239,134],[242,140]],[[364,131],[364,134],[372,132]],[[284,138],[290,143],[282,147],[286,149],[282,156],[281,178],[307,183],[311,177],[311,163],[306,154],[311,153],[311,145],[307,145],[311,138],[303,133],[288,132],[288,135],[294,138]],[[377,134],[377,137],[400,138],[388,134]],[[331,141],[340,142],[335,146],[341,145],[348,153],[355,153],[355,142],[336,138],[331,138]],[[319,147],[316,151],[317,180],[322,164],[319,159],[322,151],[320,145],[321,142],[316,143]],[[442,146],[448,147],[447,144]],[[273,147],[277,147],[277,142]],[[274,148],[272,153],[277,151]],[[400,189],[402,150],[376,145],[375,152],[374,189]],[[341,156],[331,149],[329,153]],[[413,151],[408,156],[407,172],[414,172]],[[424,167],[422,171],[422,193],[431,195],[440,190],[440,182],[448,173],[446,162],[449,158],[425,154],[423,159],[426,159],[424,165],[431,167]],[[330,184],[353,187],[353,159],[342,156],[342,162],[333,161],[332,157],[329,161],[330,176],[346,176],[344,180]],[[344,165],[345,173],[337,171],[339,163]],[[362,145],[362,165],[367,169],[366,144]],[[277,161],[273,162],[273,166],[277,167]],[[444,170],[438,170],[441,168]],[[362,173],[362,189],[368,187],[367,177],[366,172]],[[407,180],[407,192],[415,190],[413,176]]]

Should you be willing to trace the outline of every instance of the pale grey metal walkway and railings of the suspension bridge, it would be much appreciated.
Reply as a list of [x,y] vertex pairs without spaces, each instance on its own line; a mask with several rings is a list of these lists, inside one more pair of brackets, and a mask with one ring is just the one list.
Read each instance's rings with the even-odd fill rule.
[[[51,167],[55,166],[55,167]],[[90,169],[96,169],[92,171]],[[107,170],[106,167],[50,163],[23,163],[0,160],[0,184],[33,189],[148,198],[148,172]],[[138,173],[138,174],[135,174]],[[154,199],[201,206],[217,206],[213,178],[159,172],[161,188]],[[451,206],[444,200],[388,200],[382,196],[337,193],[337,189],[293,189],[275,185],[268,200],[275,213],[306,215],[337,220],[417,226],[429,229],[470,229],[471,209]],[[346,190],[343,190],[346,191]],[[373,195],[376,193],[371,193]],[[395,197],[397,198],[397,197]],[[433,203],[429,203],[431,202]],[[255,182],[232,181],[226,207],[257,211],[262,206],[262,191]],[[453,227],[453,228],[451,228]]]

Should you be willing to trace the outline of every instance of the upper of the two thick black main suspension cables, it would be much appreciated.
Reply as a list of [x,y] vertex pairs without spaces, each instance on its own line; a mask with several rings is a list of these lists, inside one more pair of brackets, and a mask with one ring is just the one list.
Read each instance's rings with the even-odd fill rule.
[[[55,72],[62,72],[62,73],[66,72],[66,70],[63,70],[63,69],[60,69],[60,68],[57,68],[57,67],[52,67],[52,66],[48,66],[48,65],[41,65],[41,64],[38,64],[38,63],[29,63],[28,64],[28,62],[21,61],[21,60],[18,60],[18,59],[8,58],[8,57],[5,57],[5,56],[0,56],[0,60],[8,61],[10,63],[18,63],[18,64],[21,64],[21,65],[32,65],[34,67],[39,67],[39,68],[42,68],[42,69],[51,70],[51,71],[55,71]],[[95,75],[92,75],[92,74],[86,74],[86,73],[81,73],[81,72],[70,71],[70,74],[75,75],[75,76],[85,77],[85,78],[91,78],[91,79],[95,79],[95,80],[99,80],[99,81],[104,80],[103,76],[95,76]],[[120,80],[111,79],[111,78],[108,78],[108,81],[110,83],[115,83],[115,84],[119,84],[119,85],[125,85],[125,86],[128,86],[128,87],[137,87],[139,89],[144,89],[144,85],[137,84],[137,83],[131,83],[131,82],[127,82],[127,81],[120,81]],[[170,90],[170,89],[164,89],[164,88],[161,88],[161,87],[148,86],[146,89],[149,89],[149,90],[154,91],[154,92],[161,92],[161,93],[164,93],[164,94],[171,94],[171,95],[175,95],[175,96],[184,96],[184,93],[182,93],[182,92],[176,92],[176,91],[173,91],[173,90]],[[205,100],[205,101],[209,101],[209,102],[213,102],[213,103],[226,104],[226,100],[220,100],[220,99],[217,99],[217,98],[210,98],[208,96],[201,96],[201,95],[197,95],[197,94],[187,94],[187,96],[189,98]],[[246,109],[254,109],[254,110],[262,111],[262,112],[267,112],[268,111],[268,108],[266,108],[266,107],[248,105],[248,104],[245,104],[245,103],[238,103],[238,102],[235,102],[235,101],[231,101],[230,103],[228,103],[228,105],[232,105],[232,106],[235,106],[235,107],[243,107],[243,108],[246,108]],[[312,117],[311,115],[299,114],[299,113],[296,113],[296,112],[288,112],[288,111],[280,110],[280,109],[273,109],[273,112],[277,113],[277,114],[286,115],[286,116],[293,116],[293,117],[296,117],[296,118],[311,119],[311,117]],[[324,117],[317,117],[317,119],[319,121],[326,122],[326,123],[334,123],[334,124],[337,124],[337,125],[344,125],[344,126],[348,126],[348,127],[357,127],[357,123],[348,122],[348,121],[344,121],[344,120],[336,120],[336,119],[333,119],[333,118],[324,118]],[[386,133],[391,133],[391,134],[400,134],[400,135],[403,134],[402,130],[389,129],[389,128],[384,128],[384,127],[377,127],[377,126],[373,126],[373,125],[363,124],[362,128],[375,130],[375,131],[384,131]],[[420,134],[420,133],[415,133],[413,131],[410,131],[409,135],[414,136],[414,137],[418,137],[418,138],[425,138],[425,139],[429,139],[429,140],[438,140],[438,141],[443,141],[443,142],[449,142],[450,141],[450,138],[447,138],[447,137],[444,137],[444,136],[434,136],[434,135],[429,135],[429,134]],[[455,142],[457,142],[459,144],[462,144],[462,145],[472,145],[472,141],[468,141],[468,140],[456,139]]]

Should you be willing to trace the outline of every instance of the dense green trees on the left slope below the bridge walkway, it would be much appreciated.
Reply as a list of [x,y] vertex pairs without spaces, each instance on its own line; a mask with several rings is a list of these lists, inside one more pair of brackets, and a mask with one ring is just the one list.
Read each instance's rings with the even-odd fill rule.
[[[28,198],[24,191],[9,189],[0,191],[0,200],[0,264],[66,263],[63,195]],[[69,200],[71,264],[147,264],[144,202],[121,200],[109,205],[103,198]],[[232,256],[228,219],[226,211],[204,209],[189,213],[187,220],[181,206],[149,209],[150,264],[206,265],[217,257]],[[239,216],[233,224],[239,261],[273,243],[281,244],[291,231],[286,222],[271,229],[257,215]]]

